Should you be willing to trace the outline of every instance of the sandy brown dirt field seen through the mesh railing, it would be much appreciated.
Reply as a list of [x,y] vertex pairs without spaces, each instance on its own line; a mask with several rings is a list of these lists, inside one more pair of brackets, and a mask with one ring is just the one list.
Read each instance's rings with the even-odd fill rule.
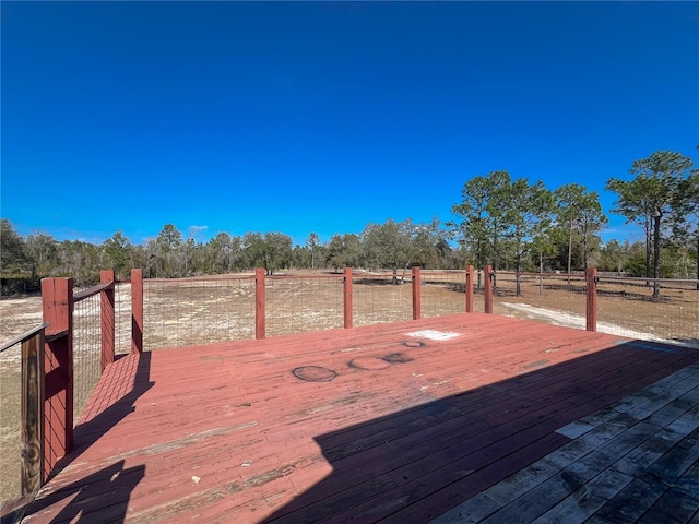
[[[294,276],[294,278],[288,278]],[[412,318],[410,275],[393,285],[387,275],[355,272],[354,325]],[[562,277],[525,277],[521,296],[513,275],[498,275],[496,314],[584,329],[584,282]],[[430,276],[423,272],[422,315],[464,311],[464,273]],[[602,278],[599,284],[599,330],[621,336],[665,340],[699,346],[699,291],[694,284],[667,283],[660,301],[638,281]],[[266,279],[266,334],[342,327],[342,275],[295,273]],[[130,350],[130,286],[117,287],[117,353]],[[476,291],[476,311],[484,310]],[[79,302],[75,323],[78,409],[98,379],[98,299]],[[0,343],[42,322],[39,297],[0,301]],[[235,275],[199,281],[144,282],[144,347],[161,349],[254,336],[254,281]],[[20,348],[0,354],[0,499],[15,497],[19,486]]]

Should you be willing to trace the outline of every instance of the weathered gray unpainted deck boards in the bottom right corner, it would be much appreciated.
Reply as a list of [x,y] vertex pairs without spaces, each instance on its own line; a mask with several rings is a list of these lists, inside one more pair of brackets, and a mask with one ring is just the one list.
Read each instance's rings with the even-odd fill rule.
[[559,450],[430,524],[699,522],[699,366],[576,420]]

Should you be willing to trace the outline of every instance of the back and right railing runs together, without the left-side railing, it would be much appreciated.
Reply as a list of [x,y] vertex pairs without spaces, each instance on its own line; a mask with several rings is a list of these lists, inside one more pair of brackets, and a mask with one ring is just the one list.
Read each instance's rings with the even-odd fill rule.
[[[488,277],[486,278],[486,275]],[[578,329],[615,332],[627,336],[685,341],[699,345],[696,325],[699,299],[696,281],[682,281],[679,299],[663,281],[661,299],[652,300],[652,279],[585,274],[475,271],[366,272],[313,275],[209,276],[143,281],[143,347],[178,347],[223,341],[263,338],[283,334],[396,322],[464,311],[519,317]],[[633,282],[636,281],[636,282]],[[642,282],[641,282],[642,281]],[[651,287],[647,287],[649,281]],[[611,302],[613,284],[640,286],[649,311],[635,320],[637,308]],[[597,289],[600,291],[597,293]],[[639,291],[620,296],[632,300]],[[469,300],[471,309],[469,309]],[[684,309],[679,309],[684,308]],[[652,311],[657,314],[653,315]],[[618,313],[618,314],[617,314]],[[663,336],[632,330],[635,322],[648,326],[662,319]],[[697,322],[696,322],[697,321]]]

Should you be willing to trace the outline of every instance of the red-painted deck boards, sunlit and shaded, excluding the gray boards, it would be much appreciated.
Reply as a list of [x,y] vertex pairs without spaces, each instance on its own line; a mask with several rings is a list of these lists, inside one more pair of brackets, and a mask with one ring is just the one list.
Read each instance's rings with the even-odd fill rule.
[[129,355],[26,522],[428,522],[697,360],[482,313]]

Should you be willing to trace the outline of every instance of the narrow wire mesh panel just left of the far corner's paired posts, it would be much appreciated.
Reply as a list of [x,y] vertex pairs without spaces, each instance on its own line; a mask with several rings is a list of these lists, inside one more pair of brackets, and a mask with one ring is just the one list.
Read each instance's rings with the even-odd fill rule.
[[466,310],[466,274],[463,271],[420,272],[422,317],[463,313]]

